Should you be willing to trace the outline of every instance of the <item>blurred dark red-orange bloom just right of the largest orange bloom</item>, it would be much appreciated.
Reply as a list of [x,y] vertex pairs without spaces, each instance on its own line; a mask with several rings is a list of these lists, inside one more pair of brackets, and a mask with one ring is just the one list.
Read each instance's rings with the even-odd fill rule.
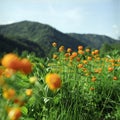
[[23,58],[20,63],[20,71],[24,74],[29,74],[32,71],[32,64],[27,58]]

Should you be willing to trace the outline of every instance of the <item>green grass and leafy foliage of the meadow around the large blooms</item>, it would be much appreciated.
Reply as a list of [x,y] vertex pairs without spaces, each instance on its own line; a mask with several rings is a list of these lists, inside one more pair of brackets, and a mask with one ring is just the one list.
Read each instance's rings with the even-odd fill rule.
[[[56,48],[53,51],[57,58],[43,59],[23,53],[22,56],[27,56],[33,63],[32,73],[24,75],[18,72],[5,78],[5,82],[25,100],[25,104],[20,106],[20,120],[119,120],[120,57],[117,50],[102,58],[99,54],[91,55],[91,52],[85,52],[73,59],[70,59],[72,53],[66,58],[66,51],[58,52]],[[87,60],[88,56],[91,56],[92,60]],[[76,61],[78,57],[80,61]],[[87,60],[87,63],[84,60]],[[79,64],[83,66],[79,68]],[[108,71],[109,67],[113,67],[113,70]],[[49,89],[45,82],[48,73],[60,75],[61,88],[56,91]],[[37,81],[30,82],[31,77],[37,77]],[[96,79],[93,80],[93,77]],[[25,95],[28,88],[33,90],[29,97]],[[0,117],[5,120],[5,105],[16,105],[3,97],[2,86],[0,90]]]

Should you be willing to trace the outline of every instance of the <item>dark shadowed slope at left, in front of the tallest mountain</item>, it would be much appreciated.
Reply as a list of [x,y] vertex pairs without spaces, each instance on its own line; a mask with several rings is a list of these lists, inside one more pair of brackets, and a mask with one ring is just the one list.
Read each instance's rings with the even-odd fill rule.
[[11,40],[0,35],[0,53],[13,52],[14,50],[17,50],[19,53],[22,51],[34,52],[37,56],[41,57],[45,55],[44,51],[36,43],[24,39],[19,40]]

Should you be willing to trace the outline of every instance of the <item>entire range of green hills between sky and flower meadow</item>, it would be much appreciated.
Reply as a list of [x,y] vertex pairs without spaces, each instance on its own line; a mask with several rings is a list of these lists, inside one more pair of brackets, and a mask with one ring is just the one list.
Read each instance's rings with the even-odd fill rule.
[[[65,48],[75,50],[78,45],[99,49],[103,43],[116,43],[118,41],[104,35],[62,33],[55,28],[38,22],[21,21],[13,24],[0,25],[0,47],[40,51],[40,55],[48,55],[52,42],[64,45]],[[6,39],[4,39],[6,38]],[[8,45],[9,44],[9,45]],[[6,47],[7,46],[7,47]],[[18,47],[19,46],[19,47]],[[58,46],[58,47],[59,47]],[[24,49],[23,49],[24,48]]]

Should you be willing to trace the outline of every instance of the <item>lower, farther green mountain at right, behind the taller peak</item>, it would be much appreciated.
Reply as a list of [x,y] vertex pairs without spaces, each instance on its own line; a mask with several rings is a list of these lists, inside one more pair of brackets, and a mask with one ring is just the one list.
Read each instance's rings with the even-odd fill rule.
[[87,44],[87,47],[100,49],[103,44],[115,44],[120,41],[105,35],[68,33],[69,36]]

